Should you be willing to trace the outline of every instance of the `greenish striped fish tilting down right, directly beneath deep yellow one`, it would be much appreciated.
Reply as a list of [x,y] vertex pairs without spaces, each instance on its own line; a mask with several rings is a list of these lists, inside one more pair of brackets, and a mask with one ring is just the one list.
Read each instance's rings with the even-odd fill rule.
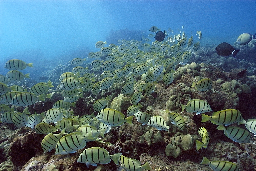
[[223,125],[219,125],[217,130],[223,130],[226,137],[230,138],[234,142],[249,143],[251,139],[251,135],[247,130],[236,126],[225,127]]

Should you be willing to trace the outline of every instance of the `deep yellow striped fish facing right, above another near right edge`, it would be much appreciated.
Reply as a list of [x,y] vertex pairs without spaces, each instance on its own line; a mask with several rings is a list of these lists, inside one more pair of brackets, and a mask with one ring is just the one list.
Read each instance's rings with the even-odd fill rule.
[[213,112],[212,116],[202,114],[202,122],[211,121],[211,123],[215,125],[228,126],[242,120],[242,114],[236,109],[225,109],[218,112]]

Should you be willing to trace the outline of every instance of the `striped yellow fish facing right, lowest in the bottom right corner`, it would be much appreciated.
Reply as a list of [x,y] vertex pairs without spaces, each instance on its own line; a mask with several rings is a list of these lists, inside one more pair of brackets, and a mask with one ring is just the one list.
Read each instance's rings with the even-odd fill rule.
[[201,164],[208,164],[209,167],[215,171],[222,171],[222,170],[238,171],[239,170],[237,165],[232,162],[221,161],[221,160],[210,161],[206,157],[203,157]]

